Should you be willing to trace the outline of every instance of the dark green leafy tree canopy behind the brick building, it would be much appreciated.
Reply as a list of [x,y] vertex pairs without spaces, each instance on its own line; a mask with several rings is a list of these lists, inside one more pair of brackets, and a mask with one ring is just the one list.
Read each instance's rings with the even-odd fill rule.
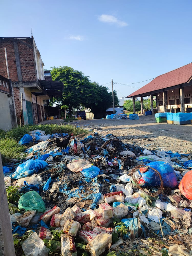
[[[53,81],[60,81],[64,85],[61,98],[52,98],[51,102],[57,102],[60,106],[68,106],[70,115],[73,109],[79,107],[91,108],[95,118],[106,114],[106,109],[113,105],[112,92],[107,87],[91,82],[88,76],[71,67],[53,67],[51,70]],[[119,104],[117,93],[114,91],[115,105]]]

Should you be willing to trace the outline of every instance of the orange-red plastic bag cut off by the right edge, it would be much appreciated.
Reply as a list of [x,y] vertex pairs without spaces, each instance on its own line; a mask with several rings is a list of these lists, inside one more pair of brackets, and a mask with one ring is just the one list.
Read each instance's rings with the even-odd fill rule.
[[179,189],[187,199],[192,200],[192,171],[187,172],[179,184]]

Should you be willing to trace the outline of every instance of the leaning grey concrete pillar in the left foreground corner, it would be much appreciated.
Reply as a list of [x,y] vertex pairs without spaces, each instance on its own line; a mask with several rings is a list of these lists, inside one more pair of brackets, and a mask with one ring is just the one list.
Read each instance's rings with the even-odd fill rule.
[[11,220],[7,203],[3,167],[0,154],[0,255],[15,256]]

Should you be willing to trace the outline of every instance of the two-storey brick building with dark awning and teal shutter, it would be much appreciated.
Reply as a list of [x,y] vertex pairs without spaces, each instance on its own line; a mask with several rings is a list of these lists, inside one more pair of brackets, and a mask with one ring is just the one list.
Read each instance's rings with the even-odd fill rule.
[[21,116],[25,125],[45,120],[44,100],[62,95],[63,83],[46,81],[43,67],[44,63],[33,37],[0,38],[0,74],[12,81],[19,124]]

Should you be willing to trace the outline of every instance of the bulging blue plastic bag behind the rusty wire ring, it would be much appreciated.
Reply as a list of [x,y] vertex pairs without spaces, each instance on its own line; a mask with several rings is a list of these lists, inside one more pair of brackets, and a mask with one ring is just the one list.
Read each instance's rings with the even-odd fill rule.
[[[163,161],[156,161],[147,164],[146,167],[153,167],[161,174],[164,187],[175,188],[178,185],[176,173],[171,164]],[[148,170],[142,174],[142,177],[145,182],[145,187],[159,187],[161,185],[159,176],[151,168],[148,168]]]

